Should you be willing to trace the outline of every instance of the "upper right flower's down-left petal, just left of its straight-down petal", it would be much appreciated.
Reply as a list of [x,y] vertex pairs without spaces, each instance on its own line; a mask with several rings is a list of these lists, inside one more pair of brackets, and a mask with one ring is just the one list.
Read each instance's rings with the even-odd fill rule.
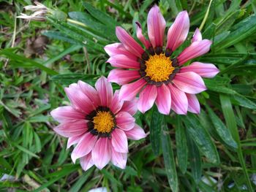
[[157,86],[156,85],[146,85],[146,88],[140,92],[140,97],[138,100],[138,110],[145,113],[147,110],[151,109],[154,101],[157,99]]

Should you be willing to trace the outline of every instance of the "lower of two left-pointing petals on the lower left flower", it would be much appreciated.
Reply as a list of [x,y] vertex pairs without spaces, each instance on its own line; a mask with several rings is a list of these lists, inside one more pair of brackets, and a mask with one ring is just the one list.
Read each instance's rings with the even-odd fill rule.
[[56,126],[53,130],[62,137],[74,137],[83,134],[88,130],[87,122],[87,120],[67,121]]

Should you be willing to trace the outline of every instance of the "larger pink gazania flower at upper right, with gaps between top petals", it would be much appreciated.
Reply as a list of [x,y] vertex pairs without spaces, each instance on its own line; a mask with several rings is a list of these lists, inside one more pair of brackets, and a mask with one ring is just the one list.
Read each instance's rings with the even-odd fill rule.
[[155,102],[159,112],[165,115],[170,109],[177,114],[199,113],[200,104],[195,94],[206,90],[202,77],[214,77],[219,70],[213,64],[200,62],[182,65],[207,53],[211,41],[202,39],[197,29],[191,45],[175,58],[173,51],[189,33],[187,11],[178,13],[170,26],[165,47],[165,19],[157,5],[149,11],[147,23],[149,40],[143,36],[140,23],[136,22],[136,34],[145,49],[124,28],[116,27],[116,36],[121,43],[107,45],[105,51],[110,55],[108,63],[118,69],[110,71],[108,81],[122,85],[119,97],[124,101],[131,101],[139,93],[140,112],[151,109]]

